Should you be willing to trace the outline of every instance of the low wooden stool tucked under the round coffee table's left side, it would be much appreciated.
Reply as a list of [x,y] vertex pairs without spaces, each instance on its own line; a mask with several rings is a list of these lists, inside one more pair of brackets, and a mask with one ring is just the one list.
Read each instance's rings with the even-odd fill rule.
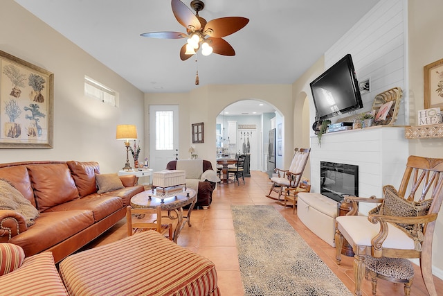
[[[134,219],[135,216],[135,219]],[[172,241],[172,224],[161,224],[161,207],[152,209],[126,207],[127,235],[132,236],[138,232],[155,230],[161,234],[168,232]]]

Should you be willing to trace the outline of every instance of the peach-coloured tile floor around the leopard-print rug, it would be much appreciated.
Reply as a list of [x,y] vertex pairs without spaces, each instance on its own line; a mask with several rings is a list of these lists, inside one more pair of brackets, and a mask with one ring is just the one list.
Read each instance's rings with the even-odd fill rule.
[[[213,261],[217,268],[218,284],[221,295],[243,295],[242,279],[237,260],[237,247],[233,220],[230,212],[231,204],[271,204],[278,209],[289,224],[305,239],[320,258],[331,268],[341,281],[354,291],[353,258],[342,256],[341,265],[335,262],[335,249],[318,236],[313,234],[298,220],[297,211],[294,215],[291,207],[284,209],[275,200],[266,198],[271,183],[265,173],[253,171],[251,177],[245,178],[246,184],[220,184],[213,193],[213,203],[208,210],[192,211],[192,227],[186,225],[179,236],[178,244],[206,256]],[[257,225],[260,227],[260,225]],[[103,245],[116,241],[127,235],[125,219],[121,220],[104,235],[91,243],[89,247]],[[275,254],[282,256],[282,254]],[[285,254],[288,256],[288,254]],[[264,267],[266,268],[266,267]],[[443,281],[434,277],[437,291],[443,291]],[[392,284],[379,279],[377,295],[404,295],[402,284]],[[363,279],[363,295],[372,295],[370,281]],[[419,268],[415,268],[415,278],[411,295],[428,295],[424,288]],[[443,295],[443,294],[442,294]]]

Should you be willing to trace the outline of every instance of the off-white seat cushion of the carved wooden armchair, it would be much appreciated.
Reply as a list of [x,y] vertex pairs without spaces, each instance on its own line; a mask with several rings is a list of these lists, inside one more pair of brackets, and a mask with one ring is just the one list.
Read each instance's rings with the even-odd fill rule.
[[[371,246],[372,238],[380,232],[380,225],[370,223],[366,216],[339,216],[336,222],[338,230],[350,245]],[[406,232],[388,223],[388,237],[383,242],[383,247],[415,250],[415,243]]]

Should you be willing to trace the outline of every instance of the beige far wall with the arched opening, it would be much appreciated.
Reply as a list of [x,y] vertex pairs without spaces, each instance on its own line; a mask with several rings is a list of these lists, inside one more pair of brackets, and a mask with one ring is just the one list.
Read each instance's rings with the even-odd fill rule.
[[[145,106],[179,105],[180,149],[179,158],[188,158],[188,148],[195,146],[202,159],[208,159],[215,165],[215,119],[224,107],[245,99],[256,99],[273,105],[284,116],[284,125],[292,126],[293,98],[291,85],[208,85],[186,94],[145,94]],[[205,143],[192,144],[190,126],[192,123],[204,123]],[[145,126],[148,128],[148,125]],[[293,150],[291,128],[284,129],[286,151]],[[149,143],[149,139],[145,139]],[[289,158],[288,158],[289,157]],[[289,166],[292,155],[285,155]]]

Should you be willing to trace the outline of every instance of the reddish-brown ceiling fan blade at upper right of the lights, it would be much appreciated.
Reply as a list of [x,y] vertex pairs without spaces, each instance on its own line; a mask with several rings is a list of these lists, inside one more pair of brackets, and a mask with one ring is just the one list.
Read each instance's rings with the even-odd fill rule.
[[225,37],[239,31],[248,24],[246,17],[221,17],[206,24],[204,33],[210,37]]

